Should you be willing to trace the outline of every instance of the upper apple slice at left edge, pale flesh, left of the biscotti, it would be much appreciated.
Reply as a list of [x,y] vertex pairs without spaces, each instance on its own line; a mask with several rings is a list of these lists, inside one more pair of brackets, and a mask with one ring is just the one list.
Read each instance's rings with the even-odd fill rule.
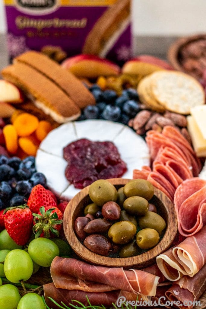
[[0,80],[0,101],[22,103],[23,93],[15,85],[6,80]]

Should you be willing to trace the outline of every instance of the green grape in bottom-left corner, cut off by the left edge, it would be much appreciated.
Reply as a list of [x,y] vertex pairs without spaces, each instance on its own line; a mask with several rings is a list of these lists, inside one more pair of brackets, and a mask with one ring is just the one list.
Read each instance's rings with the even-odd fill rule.
[[0,286],[0,308],[16,309],[21,296],[16,286],[4,284]]

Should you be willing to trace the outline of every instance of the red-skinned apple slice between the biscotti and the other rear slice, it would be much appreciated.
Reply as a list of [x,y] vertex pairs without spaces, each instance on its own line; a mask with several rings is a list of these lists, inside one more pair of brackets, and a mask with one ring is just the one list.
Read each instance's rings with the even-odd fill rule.
[[68,69],[78,78],[97,78],[100,75],[118,75],[120,67],[115,63],[94,55],[77,55],[62,62],[62,67]]

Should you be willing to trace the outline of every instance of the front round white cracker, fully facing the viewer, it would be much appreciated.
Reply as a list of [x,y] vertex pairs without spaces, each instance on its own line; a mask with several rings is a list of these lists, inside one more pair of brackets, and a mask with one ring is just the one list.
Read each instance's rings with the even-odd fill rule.
[[190,114],[190,109],[205,103],[200,83],[190,75],[177,71],[158,71],[152,74],[153,97],[171,112]]

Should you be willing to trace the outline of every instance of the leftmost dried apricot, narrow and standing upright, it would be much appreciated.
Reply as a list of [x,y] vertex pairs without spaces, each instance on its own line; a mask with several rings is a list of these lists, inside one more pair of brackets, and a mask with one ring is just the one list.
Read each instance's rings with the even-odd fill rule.
[[11,154],[15,154],[18,149],[18,137],[15,127],[13,125],[5,125],[3,128],[3,134],[6,142],[6,149]]

